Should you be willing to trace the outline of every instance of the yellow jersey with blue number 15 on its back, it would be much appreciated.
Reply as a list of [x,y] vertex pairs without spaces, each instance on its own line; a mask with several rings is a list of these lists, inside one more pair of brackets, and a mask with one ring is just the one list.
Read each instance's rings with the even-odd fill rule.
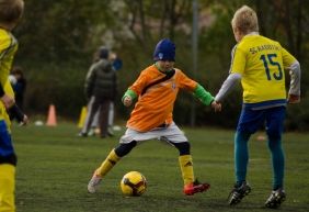
[[245,35],[232,51],[230,74],[241,75],[243,103],[286,100],[285,69],[296,58],[278,42]]

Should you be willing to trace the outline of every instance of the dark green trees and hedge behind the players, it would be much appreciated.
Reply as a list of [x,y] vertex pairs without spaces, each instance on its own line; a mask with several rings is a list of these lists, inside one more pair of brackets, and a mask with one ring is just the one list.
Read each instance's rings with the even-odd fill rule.
[[[236,44],[230,20],[242,4],[256,10],[262,35],[279,41],[300,62],[302,102],[288,108],[286,126],[309,130],[309,4],[302,0],[198,1],[197,74],[192,70],[192,1],[27,0],[24,19],[14,31],[20,42],[15,65],[24,68],[28,80],[25,111],[46,113],[55,103],[58,114],[77,120],[85,104],[84,76],[101,45],[112,47],[123,59],[119,100],[139,71],[152,63],[153,47],[162,37],[175,42],[176,66],[215,94],[228,75]],[[237,90],[219,115],[196,103],[196,123],[234,126],[241,107],[241,89]],[[191,104],[191,94],[181,94],[174,111],[176,122],[188,124]],[[125,119],[129,111],[121,101],[116,107],[117,116]]]

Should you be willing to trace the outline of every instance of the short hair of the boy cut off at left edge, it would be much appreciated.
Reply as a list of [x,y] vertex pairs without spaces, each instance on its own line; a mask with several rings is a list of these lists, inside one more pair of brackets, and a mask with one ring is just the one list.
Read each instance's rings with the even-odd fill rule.
[[0,0],[0,22],[14,23],[19,21],[23,10],[23,0]]

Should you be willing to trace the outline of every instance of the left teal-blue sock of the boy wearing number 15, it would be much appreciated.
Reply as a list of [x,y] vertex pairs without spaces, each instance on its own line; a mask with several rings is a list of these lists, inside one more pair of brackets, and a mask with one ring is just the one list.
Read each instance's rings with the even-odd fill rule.
[[234,135],[234,170],[237,186],[245,181],[247,166],[249,159],[248,141],[250,134],[237,132]]

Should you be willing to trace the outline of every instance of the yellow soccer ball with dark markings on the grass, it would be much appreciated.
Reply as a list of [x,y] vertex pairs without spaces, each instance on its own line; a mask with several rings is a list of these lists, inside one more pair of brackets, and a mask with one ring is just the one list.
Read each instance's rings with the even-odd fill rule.
[[129,171],[123,177],[121,188],[124,196],[139,197],[146,191],[147,181],[140,172]]

